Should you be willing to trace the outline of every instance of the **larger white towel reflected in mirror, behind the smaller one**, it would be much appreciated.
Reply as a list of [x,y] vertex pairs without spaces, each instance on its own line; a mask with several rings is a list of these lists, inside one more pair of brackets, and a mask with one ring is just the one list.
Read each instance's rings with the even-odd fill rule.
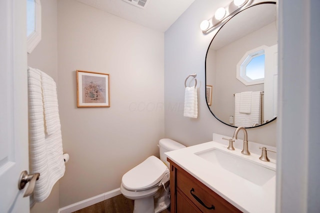
[[240,113],[241,93],[234,94],[234,125],[252,127],[261,124],[261,95],[260,92],[251,93],[251,112]]

